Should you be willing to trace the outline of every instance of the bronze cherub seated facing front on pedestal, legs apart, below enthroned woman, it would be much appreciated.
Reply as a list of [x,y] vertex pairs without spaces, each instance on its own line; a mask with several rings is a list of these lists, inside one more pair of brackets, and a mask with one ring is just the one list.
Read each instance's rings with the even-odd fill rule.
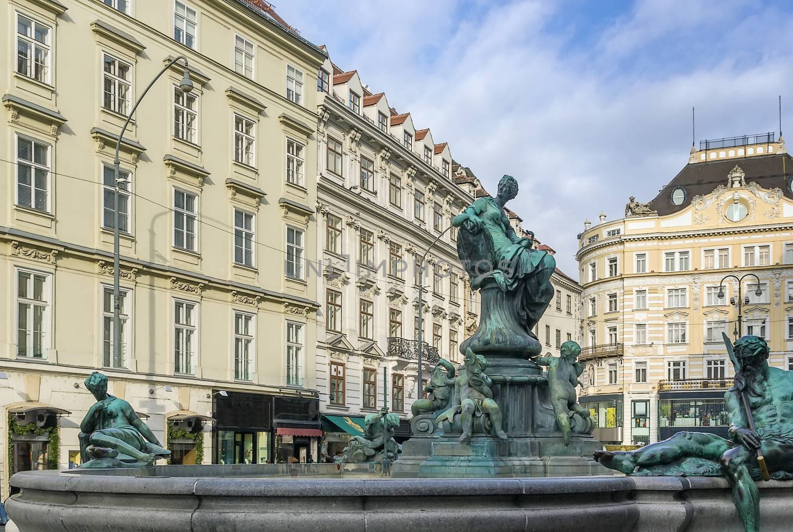
[[473,432],[473,419],[488,415],[492,424],[492,434],[496,438],[506,440],[507,434],[501,428],[501,410],[493,400],[490,389],[492,381],[485,374],[488,367],[487,358],[475,354],[469,347],[465,350],[465,363],[457,377],[454,377],[454,404],[451,408],[438,416],[438,423],[444,419],[454,425],[454,416],[460,414],[459,423],[462,434],[459,441],[465,442],[471,438]]

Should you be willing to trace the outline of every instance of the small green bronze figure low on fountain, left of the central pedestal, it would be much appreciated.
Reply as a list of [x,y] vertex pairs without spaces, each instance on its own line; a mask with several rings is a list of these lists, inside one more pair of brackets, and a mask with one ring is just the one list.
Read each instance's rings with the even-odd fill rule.
[[386,464],[397,460],[402,451],[393,438],[394,430],[399,427],[399,415],[389,414],[389,409],[383,408],[377,414],[367,415],[363,424],[363,435],[353,436],[336,461],[339,464],[382,462],[385,473]]

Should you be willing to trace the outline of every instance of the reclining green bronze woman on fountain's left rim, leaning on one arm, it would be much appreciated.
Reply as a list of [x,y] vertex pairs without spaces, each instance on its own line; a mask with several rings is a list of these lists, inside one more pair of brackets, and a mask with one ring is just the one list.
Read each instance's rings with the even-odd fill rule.
[[80,423],[81,468],[142,467],[170,457],[132,406],[107,392],[107,377],[94,371],[85,381],[97,402]]

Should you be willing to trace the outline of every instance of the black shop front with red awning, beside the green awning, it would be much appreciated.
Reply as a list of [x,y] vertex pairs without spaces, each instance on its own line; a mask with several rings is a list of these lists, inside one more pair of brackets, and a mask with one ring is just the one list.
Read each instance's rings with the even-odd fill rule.
[[322,438],[320,400],[273,396],[274,461],[278,464],[318,461]]

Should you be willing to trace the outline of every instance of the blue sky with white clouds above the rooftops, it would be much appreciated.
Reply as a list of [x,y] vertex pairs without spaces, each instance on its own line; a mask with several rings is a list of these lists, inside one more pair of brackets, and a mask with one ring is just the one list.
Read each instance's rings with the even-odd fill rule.
[[793,5],[785,2],[276,4],[331,59],[448,142],[485,188],[573,258],[584,218],[650,201],[697,140],[793,131]]

